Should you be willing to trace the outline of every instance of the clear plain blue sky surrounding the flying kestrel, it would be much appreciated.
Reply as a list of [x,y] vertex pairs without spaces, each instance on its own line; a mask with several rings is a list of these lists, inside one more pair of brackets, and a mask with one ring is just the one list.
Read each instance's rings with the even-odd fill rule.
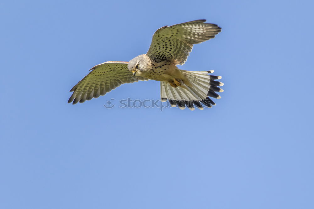
[[[310,1],[1,1],[0,208],[313,208]],[[184,70],[215,70],[217,106],[159,99],[157,81],[83,104],[91,67],[144,54],[164,25],[222,27]]]

